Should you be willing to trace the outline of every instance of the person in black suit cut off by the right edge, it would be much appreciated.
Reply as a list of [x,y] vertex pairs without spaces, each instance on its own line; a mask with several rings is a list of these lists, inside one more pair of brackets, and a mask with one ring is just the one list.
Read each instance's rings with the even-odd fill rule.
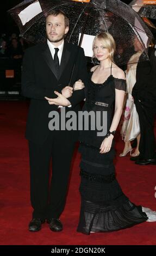
[[[140,56],[142,58],[142,56]],[[141,60],[141,59],[140,59]],[[156,164],[154,119],[156,112],[156,57],[149,50],[149,60],[139,62],[136,68],[136,83],[132,90],[140,122],[140,155],[136,164]]]

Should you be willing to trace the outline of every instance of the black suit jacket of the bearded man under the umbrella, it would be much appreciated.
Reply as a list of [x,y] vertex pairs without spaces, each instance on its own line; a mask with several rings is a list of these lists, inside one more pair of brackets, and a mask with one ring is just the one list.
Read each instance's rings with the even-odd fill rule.
[[[30,141],[38,144],[45,142],[49,134],[48,114],[58,110],[57,106],[49,105],[45,96],[55,98],[57,95],[54,94],[54,90],[61,93],[61,90],[68,86],[75,60],[76,65],[71,84],[79,79],[85,83],[87,71],[83,48],[64,42],[58,80],[47,42],[26,50],[22,66],[22,94],[31,99],[26,128],[26,138]],[[66,107],[66,112],[75,111],[77,113],[80,110],[79,102],[83,99],[84,89],[73,92],[72,96],[68,98],[72,107]],[[78,131],[60,131],[60,135],[68,136],[69,139],[76,141]]]

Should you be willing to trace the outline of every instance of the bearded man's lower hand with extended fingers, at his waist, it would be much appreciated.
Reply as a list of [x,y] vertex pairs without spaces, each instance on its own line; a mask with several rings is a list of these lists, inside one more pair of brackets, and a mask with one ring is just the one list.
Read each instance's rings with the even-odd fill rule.
[[57,105],[57,106],[70,106],[71,102],[66,99],[64,95],[61,93],[58,93],[57,91],[54,91],[54,93],[58,96],[54,99],[49,99],[48,97],[45,97],[45,99],[48,101],[49,105]]

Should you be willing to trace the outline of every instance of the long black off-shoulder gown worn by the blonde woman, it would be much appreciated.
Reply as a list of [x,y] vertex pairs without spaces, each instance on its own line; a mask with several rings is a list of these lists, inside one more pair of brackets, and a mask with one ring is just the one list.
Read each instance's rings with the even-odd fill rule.
[[[126,91],[126,81],[110,76],[102,84],[93,83],[92,72],[85,87],[86,101],[83,111],[107,111],[109,131],[115,89]],[[104,137],[97,136],[97,130],[80,132],[80,196],[81,209],[77,231],[89,235],[93,232],[115,231],[145,222],[148,217],[124,195],[115,178],[113,159],[115,156],[114,139],[111,150],[99,154]]]

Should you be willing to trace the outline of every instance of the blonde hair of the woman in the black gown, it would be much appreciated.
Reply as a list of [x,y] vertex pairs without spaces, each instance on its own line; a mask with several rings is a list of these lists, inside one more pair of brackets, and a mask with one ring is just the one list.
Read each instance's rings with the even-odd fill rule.
[[[92,51],[93,51],[93,47],[95,46],[95,40],[98,39],[98,40],[101,40],[102,41],[102,44],[105,48],[108,49],[109,51],[109,59],[114,62],[114,53],[115,53],[115,50],[116,50],[116,44],[115,44],[115,41],[114,41],[114,38],[111,34],[107,33],[107,32],[102,32],[102,33],[99,33],[95,36],[95,38],[93,39],[93,42],[92,42]],[[93,54],[93,58],[94,58],[94,54]]]

